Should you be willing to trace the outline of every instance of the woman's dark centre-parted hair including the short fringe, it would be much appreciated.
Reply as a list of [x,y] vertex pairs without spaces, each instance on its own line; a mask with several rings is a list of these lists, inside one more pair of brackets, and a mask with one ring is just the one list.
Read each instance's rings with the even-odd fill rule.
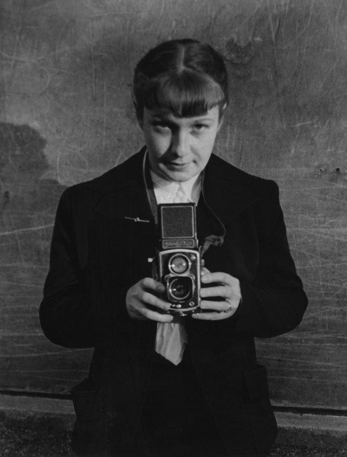
[[162,108],[176,117],[222,110],[228,104],[228,74],[223,58],[209,44],[170,40],[139,60],[133,78],[137,117],[144,108]]

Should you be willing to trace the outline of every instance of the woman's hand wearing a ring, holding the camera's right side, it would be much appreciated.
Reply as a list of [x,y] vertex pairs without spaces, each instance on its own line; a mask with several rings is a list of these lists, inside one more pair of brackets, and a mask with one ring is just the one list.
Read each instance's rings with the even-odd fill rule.
[[[194,319],[201,320],[221,320],[228,319],[235,314],[241,301],[241,290],[239,280],[228,273],[211,273],[208,269],[203,268],[201,272],[201,282],[203,284],[217,283],[208,288],[201,288],[200,307],[208,310],[207,313],[193,314]],[[209,301],[204,298],[220,297],[222,301]]]

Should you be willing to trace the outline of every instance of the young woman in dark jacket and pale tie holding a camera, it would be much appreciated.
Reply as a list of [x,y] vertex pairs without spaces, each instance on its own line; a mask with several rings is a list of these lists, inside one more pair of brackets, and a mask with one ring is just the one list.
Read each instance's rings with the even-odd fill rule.
[[[267,456],[276,438],[254,337],[294,329],[307,299],[278,186],[215,156],[228,106],[223,58],[171,40],[140,60],[133,100],[144,148],[58,206],[40,308],[65,347],[94,347],[73,392],[80,455]],[[149,259],[156,205],[196,206],[200,313],[167,314]]]

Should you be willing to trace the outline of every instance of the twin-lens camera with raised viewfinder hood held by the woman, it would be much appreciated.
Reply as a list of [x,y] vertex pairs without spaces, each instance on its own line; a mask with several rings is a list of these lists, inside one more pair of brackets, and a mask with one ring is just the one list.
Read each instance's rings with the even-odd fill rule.
[[185,316],[200,310],[201,255],[196,236],[195,203],[158,205],[159,245],[155,278],[164,284],[167,313]]

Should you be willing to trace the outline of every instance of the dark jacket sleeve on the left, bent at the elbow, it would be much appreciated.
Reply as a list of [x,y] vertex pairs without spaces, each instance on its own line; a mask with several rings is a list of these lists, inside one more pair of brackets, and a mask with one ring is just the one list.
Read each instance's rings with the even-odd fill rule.
[[85,348],[95,343],[95,316],[87,274],[78,263],[70,194],[71,188],[63,192],[56,213],[40,322],[51,342]]

